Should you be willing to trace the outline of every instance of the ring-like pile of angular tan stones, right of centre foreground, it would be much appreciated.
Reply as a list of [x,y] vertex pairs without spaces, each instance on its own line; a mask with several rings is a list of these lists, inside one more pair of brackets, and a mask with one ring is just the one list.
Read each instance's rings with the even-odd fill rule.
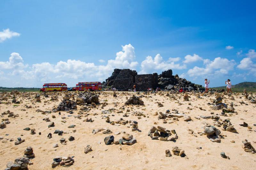
[[[171,137],[172,134],[174,134],[174,137]],[[157,126],[157,128],[152,126],[152,128],[148,132],[148,136],[150,136],[153,140],[158,140],[159,138],[160,141],[175,141],[176,139],[178,139],[175,130],[165,130],[165,128],[162,128],[160,126]]]

